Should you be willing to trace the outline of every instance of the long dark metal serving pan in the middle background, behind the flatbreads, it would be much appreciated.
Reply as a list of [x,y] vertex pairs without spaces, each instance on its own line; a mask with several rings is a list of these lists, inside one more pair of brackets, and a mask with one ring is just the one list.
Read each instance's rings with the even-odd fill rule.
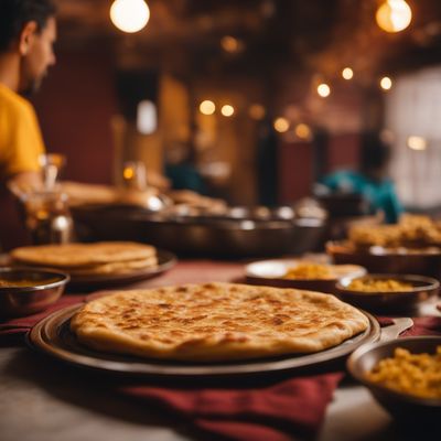
[[179,255],[206,257],[310,251],[320,243],[325,224],[322,218],[299,218],[290,207],[232,207],[215,214],[85,206],[73,214],[85,240],[137,240]]

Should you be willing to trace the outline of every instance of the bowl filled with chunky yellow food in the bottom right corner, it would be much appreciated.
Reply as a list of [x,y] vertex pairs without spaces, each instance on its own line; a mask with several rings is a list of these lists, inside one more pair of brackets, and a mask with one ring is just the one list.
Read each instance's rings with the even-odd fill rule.
[[439,420],[441,336],[363,345],[347,359],[347,369],[394,417]]

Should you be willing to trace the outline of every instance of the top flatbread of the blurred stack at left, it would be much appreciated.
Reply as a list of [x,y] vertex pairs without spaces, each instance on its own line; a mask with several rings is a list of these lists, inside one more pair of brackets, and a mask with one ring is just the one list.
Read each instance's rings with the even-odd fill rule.
[[13,260],[24,263],[73,269],[149,259],[155,256],[155,248],[135,241],[100,241],[20,247],[13,249],[10,255]]

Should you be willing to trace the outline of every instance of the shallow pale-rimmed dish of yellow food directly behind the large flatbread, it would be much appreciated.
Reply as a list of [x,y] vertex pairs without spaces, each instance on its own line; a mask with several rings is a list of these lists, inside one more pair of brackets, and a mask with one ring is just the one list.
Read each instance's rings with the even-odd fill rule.
[[363,276],[366,269],[357,265],[330,265],[308,259],[273,259],[251,262],[245,272],[250,283],[334,293],[337,280]]

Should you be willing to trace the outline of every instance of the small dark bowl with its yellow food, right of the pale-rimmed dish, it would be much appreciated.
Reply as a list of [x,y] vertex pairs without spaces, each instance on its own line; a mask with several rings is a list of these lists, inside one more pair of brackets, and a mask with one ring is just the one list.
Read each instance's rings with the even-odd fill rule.
[[410,312],[438,295],[437,279],[417,275],[366,275],[337,281],[336,295],[373,312]]

